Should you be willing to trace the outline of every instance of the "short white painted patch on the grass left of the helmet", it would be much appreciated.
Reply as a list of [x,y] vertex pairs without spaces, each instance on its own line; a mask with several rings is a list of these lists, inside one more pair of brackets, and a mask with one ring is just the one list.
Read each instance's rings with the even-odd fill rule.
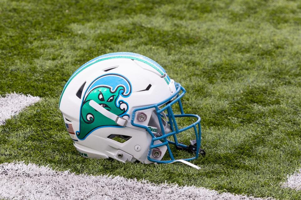
[[5,97],[0,96],[0,125],[3,125],[6,119],[18,114],[26,106],[39,100],[39,97],[17,93],[6,94]]

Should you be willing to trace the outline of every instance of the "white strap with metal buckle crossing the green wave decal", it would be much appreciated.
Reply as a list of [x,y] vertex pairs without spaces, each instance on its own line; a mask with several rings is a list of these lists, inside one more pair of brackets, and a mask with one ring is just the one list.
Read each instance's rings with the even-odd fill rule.
[[130,121],[128,121],[127,119],[124,119],[122,117],[119,117],[118,115],[115,115],[114,113],[111,113],[110,111],[106,110],[105,108],[103,108],[101,105],[99,105],[95,101],[90,100],[89,105],[92,108],[94,108],[95,110],[97,110],[99,113],[106,116],[107,118],[112,119],[113,121],[115,121],[115,123],[118,124],[119,126],[132,127]]

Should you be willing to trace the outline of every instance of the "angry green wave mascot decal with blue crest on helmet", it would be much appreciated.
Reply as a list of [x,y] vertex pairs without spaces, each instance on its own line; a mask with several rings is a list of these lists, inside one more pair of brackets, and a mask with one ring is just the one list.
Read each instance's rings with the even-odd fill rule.
[[[103,127],[120,127],[114,120],[105,117],[89,105],[93,100],[111,113],[123,117],[128,104],[119,97],[129,97],[131,84],[120,74],[105,74],[96,78],[87,88],[80,108],[80,126],[77,138],[85,139],[92,131]],[[129,116],[129,115],[128,115]]]

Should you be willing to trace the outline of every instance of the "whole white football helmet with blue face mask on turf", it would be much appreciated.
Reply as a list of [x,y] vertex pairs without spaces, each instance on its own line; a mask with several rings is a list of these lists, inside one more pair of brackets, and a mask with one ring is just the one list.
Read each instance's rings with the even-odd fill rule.
[[[204,154],[200,149],[200,117],[184,114],[184,88],[170,79],[155,61],[136,53],[109,53],[78,68],[67,81],[59,108],[77,151],[86,158],[122,162],[171,163],[169,144]],[[172,105],[180,114],[173,114]],[[178,128],[176,118],[195,122]],[[190,129],[189,145],[177,135]],[[162,160],[166,151],[170,158]],[[198,153],[196,153],[198,152]],[[182,159],[181,159],[182,162]]]

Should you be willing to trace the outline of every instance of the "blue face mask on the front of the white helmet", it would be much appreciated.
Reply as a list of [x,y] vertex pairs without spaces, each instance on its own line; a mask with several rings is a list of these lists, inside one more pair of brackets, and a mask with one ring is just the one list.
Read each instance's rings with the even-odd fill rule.
[[[198,115],[194,114],[185,114],[182,108],[181,98],[186,93],[185,89],[179,84],[176,83],[176,92],[169,98],[165,99],[164,101],[153,104],[150,106],[135,108],[132,113],[132,120],[131,124],[136,127],[145,128],[145,130],[151,135],[152,140],[150,143],[149,153],[148,153],[148,160],[155,163],[172,163],[177,161],[178,159],[174,158],[174,155],[172,154],[171,148],[169,144],[175,145],[177,149],[179,150],[186,150],[188,152],[194,153],[195,156],[192,158],[184,158],[181,160],[184,161],[190,161],[193,159],[198,158],[199,154],[204,155],[205,152],[200,149],[200,143],[201,143],[201,125],[200,121],[201,118]],[[172,105],[178,104],[179,110],[181,114],[174,114],[172,111]],[[139,113],[143,110],[155,108],[153,111],[153,118],[156,118],[153,121],[156,121],[157,124],[157,130],[161,133],[155,133],[152,131],[151,127],[147,127],[144,125],[140,125],[134,122],[135,114]],[[184,128],[178,128],[178,124],[176,121],[176,118],[194,118],[195,122],[184,127]],[[158,120],[158,121],[157,121]],[[177,135],[180,134],[183,131],[186,131],[188,129],[193,129],[195,133],[195,139],[190,140],[190,144],[185,145],[180,143],[178,141]],[[156,131],[157,131],[156,130]],[[169,139],[168,139],[169,138]],[[172,139],[171,139],[172,138]],[[160,141],[159,143],[156,141]],[[156,160],[156,158],[161,157],[161,151],[159,147],[166,146],[167,152],[169,154],[170,160]]]

